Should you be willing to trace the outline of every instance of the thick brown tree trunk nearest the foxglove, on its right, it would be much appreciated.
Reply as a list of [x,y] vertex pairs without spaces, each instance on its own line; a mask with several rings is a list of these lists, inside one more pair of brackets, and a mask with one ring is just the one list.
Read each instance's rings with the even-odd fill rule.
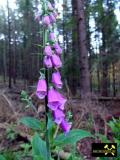
[[87,93],[90,93],[90,73],[88,67],[88,50],[86,46],[86,26],[83,0],[77,0],[77,14],[80,62],[80,89],[81,97],[85,97]]

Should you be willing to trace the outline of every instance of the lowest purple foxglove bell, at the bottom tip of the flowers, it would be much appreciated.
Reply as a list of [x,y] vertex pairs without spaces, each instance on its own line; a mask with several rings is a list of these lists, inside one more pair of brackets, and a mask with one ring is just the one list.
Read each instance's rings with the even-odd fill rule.
[[68,123],[66,120],[62,120],[60,127],[64,131],[65,134],[67,134],[70,131],[71,124]]

